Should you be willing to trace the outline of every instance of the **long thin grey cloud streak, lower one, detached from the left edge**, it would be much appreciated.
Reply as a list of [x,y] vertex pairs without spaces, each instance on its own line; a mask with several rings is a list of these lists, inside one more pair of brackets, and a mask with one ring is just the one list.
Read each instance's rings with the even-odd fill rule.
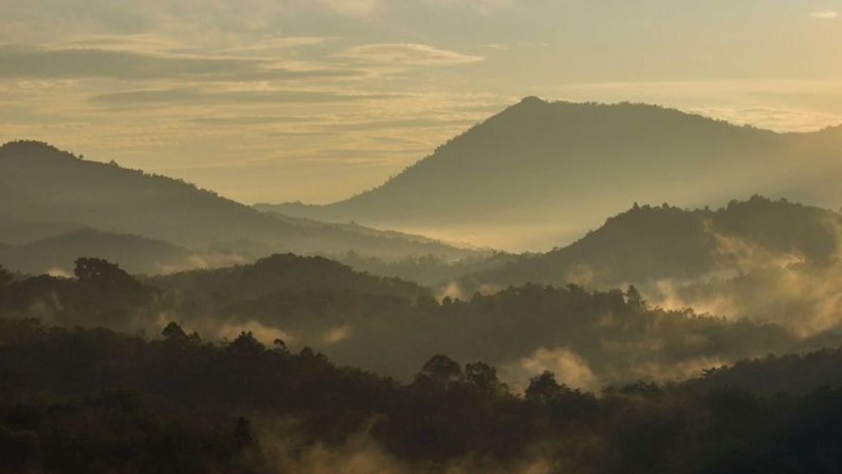
[[90,101],[99,105],[215,105],[215,104],[317,104],[387,100],[403,94],[365,94],[320,90],[204,90],[197,88],[141,89],[112,94],[98,94]]

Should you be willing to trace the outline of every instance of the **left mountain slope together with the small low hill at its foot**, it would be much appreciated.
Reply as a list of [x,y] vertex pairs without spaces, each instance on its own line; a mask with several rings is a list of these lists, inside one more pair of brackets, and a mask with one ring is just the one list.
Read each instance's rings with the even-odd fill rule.
[[[477,254],[417,235],[260,213],[181,180],[80,159],[38,142],[0,147],[0,220],[0,242],[8,247],[0,264],[28,271],[63,266],[73,251],[92,256],[94,250],[131,272],[181,267],[190,253],[209,252],[248,259],[278,251]],[[88,230],[73,233],[79,229]],[[145,257],[147,250],[155,257]]]

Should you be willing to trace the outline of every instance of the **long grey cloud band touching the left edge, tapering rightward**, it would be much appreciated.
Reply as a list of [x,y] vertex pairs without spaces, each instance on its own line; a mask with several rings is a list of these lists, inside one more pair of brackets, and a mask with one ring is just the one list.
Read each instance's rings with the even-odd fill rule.
[[231,57],[163,56],[106,49],[0,46],[0,78],[111,78],[265,81],[359,77],[334,68],[294,70],[273,62]]

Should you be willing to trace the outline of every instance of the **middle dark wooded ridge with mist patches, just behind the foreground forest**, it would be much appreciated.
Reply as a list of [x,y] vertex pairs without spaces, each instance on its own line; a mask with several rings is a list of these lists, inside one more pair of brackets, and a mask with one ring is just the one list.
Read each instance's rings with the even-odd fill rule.
[[176,320],[212,340],[252,331],[263,342],[317,347],[342,364],[404,378],[430,353],[447,353],[498,365],[517,385],[553,369],[569,385],[594,388],[839,343],[833,331],[804,338],[778,325],[661,310],[633,287],[525,285],[440,303],[414,283],[297,256],[142,283],[107,261],[81,259],[74,278],[7,280],[7,317],[147,333]]

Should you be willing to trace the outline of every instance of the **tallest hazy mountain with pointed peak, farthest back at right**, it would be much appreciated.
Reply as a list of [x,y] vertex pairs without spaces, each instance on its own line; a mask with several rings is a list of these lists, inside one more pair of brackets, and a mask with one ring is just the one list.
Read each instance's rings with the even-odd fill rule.
[[776,133],[654,105],[530,97],[376,189],[326,206],[260,208],[425,233],[475,228],[456,234],[483,245],[507,231],[521,245],[548,245],[634,201],[700,206],[760,193],[836,208],[839,159],[842,127]]

